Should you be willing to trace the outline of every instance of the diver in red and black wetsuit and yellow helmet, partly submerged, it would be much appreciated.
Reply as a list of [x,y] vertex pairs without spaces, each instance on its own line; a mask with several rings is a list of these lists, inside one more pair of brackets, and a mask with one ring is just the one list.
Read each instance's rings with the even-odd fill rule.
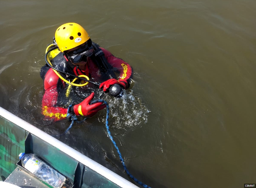
[[[66,118],[67,105],[70,104],[69,98],[72,95],[71,86],[84,82],[93,85],[92,83],[98,82],[97,87],[103,88],[105,93],[116,84],[121,86],[121,89],[129,88],[132,76],[131,66],[92,42],[88,33],[79,24],[61,25],[55,32],[53,46],[54,48],[51,46],[48,52],[56,49],[59,53],[51,60],[48,59],[47,64],[40,71],[44,80],[42,113],[45,117],[54,120]],[[80,79],[77,79],[78,76]],[[74,81],[75,78],[76,81]],[[69,108],[71,114],[92,117],[106,107],[102,102],[90,104],[94,92],[86,89],[84,88],[84,92],[91,94],[79,104],[72,104]],[[65,91],[64,97],[61,94],[63,91]]]

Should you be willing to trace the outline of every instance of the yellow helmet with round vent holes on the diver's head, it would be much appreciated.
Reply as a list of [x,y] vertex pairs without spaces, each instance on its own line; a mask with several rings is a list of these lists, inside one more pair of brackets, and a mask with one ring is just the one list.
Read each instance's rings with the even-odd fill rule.
[[88,33],[77,23],[63,24],[55,32],[55,40],[61,52],[77,47],[89,39]]

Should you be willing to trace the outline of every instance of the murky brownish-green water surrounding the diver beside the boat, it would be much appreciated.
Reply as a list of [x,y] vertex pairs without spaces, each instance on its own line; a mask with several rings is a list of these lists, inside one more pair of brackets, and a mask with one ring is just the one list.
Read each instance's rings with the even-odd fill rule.
[[[106,99],[137,179],[154,188],[255,183],[255,9],[253,0],[2,0],[0,106],[49,134],[69,126],[41,115],[39,72],[58,26],[77,22],[133,67],[127,98]],[[129,179],[104,118],[101,111],[60,140]]]

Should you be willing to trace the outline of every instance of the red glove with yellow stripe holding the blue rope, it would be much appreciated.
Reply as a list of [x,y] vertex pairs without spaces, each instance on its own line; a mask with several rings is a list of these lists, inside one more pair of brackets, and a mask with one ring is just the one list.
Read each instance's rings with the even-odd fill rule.
[[71,107],[71,112],[75,113],[75,115],[82,115],[85,117],[92,117],[94,116],[98,111],[102,110],[106,107],[106,105],[103,102],[97,102],[94,104],[89,104],[89,102],[94,97],[94,93],[92,92],[89,97],[84,99],[81,103],[76,104]]

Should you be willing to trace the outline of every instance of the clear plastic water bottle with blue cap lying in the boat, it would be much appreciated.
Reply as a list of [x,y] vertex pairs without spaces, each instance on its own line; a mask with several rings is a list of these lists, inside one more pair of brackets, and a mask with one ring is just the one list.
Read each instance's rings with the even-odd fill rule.
[[66,181],[66,178],[63,175],[51,168],[34,154],[20,153],[19,159],[25,169],[54,188],[61,188]]

